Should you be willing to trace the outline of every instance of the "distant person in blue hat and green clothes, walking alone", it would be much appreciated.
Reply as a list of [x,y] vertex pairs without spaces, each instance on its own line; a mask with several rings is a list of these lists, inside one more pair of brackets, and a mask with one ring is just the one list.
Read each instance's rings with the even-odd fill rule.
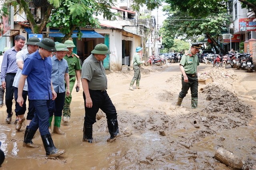
[[134,90],[132,88],[135,80],[136,80],[136,89],[140,89],[140,64],[144,64],[145,61],[140,61],[140,56],[142,55],[142,48],[138,46],[136,48],[136,53],[133,56],[133,70],[134,70],[134,76],[132,78],[132,81],[130,82],[130,90]]

